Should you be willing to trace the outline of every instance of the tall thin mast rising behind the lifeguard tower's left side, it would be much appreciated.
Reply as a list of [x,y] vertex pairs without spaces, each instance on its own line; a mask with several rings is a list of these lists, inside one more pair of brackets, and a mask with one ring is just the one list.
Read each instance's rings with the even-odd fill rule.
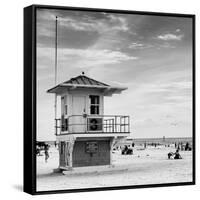
[[[58,47],[58,17],[55,22],[55,86],[57,84],[57,47]],[[55,134],[57,135],[57,94],[55,94]]]

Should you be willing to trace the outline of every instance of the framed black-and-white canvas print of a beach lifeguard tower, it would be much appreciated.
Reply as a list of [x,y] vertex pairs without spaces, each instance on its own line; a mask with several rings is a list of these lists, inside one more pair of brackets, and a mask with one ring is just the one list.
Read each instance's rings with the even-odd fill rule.
[[195,184],[195,16],[24,8],[24,191]]

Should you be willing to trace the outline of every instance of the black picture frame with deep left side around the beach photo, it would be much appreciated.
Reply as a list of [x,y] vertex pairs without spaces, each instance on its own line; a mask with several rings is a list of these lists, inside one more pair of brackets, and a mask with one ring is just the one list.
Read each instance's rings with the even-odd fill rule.
[[[192,163],[192,181],[180,183],[163,183],[163,184],[148,184],[148,185],[133,185],[120,187],[106,188],[87,188],[87,189],[66,189],[66,190],[51,190],[51,191],[36,191],[36,10],[37,9],[58,9],[71,11],[95,11],[123,14],[138,14],[138,15],[153,15],[153,16],[174,16],[192,19],[192,108],[193,108],[193,163]],[[99,8],[80,8],[80,7],[64,7],[52,5],[31,5],[24,8],[24,192],[38,194],[55,194],[55,193],[71,193],[71,192],[88,192],[102,190],[121,190],[121,189],[136,189],[136,188],[151,188],[151,187],[167,187],[195,184],[195,15],[193,14],[178,14],[178,13],[159,13],[146,11],[128,11],[128,10],[112,10]]]

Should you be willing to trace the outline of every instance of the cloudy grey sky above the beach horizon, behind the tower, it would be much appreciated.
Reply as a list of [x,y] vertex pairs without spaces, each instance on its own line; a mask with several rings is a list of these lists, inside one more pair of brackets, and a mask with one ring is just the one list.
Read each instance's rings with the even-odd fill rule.
[[37,10],[37,140],[55,140],[55,17],[58,83],[81,74],[128,87],[104,113],[130,115],[131,137],[192,136],[192,19]]

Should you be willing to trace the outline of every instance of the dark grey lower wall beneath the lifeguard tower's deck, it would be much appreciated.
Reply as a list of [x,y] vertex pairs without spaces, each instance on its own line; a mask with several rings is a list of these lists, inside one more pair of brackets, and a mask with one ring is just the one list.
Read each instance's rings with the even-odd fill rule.
[[110,164],[110,140],[92,141],[98,144],[96,153],[86,152],[86,141],[75,142],[73,149],[73,167]]

